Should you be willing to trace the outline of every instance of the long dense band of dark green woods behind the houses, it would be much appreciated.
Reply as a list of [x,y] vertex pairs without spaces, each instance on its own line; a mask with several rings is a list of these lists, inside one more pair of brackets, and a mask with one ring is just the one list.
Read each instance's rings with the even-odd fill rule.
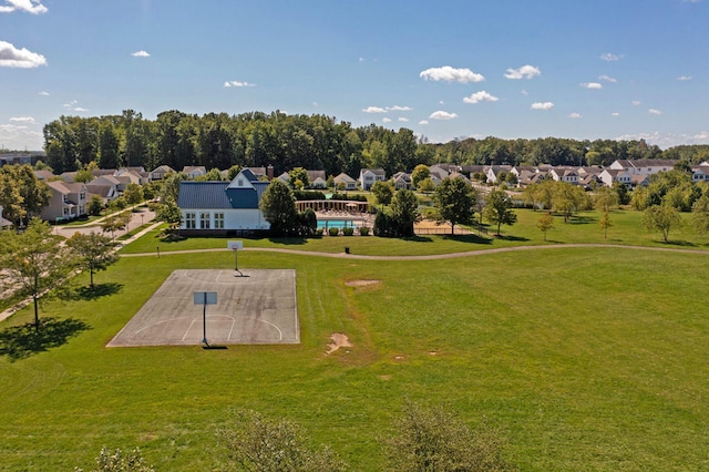
[[695,164],[709,160],[709,145],[662,151],[644,140],[489,136],[429,143],[405,127],[353,127],[332,116],[279,111],[199,116],[171,110],[147,120],[126,110],[120,115],[60,116],[44,125],[43,133],[48,164],[55,173],[78,171],[91,162],[101,168],[169,165],[177,171],[186,165],[219,170],[273,165],[276,175],[304,167],[357,176],[362,167],[383,168],[392,175],[417,164],[436,163],[608,165],[627,158],[675,158]]

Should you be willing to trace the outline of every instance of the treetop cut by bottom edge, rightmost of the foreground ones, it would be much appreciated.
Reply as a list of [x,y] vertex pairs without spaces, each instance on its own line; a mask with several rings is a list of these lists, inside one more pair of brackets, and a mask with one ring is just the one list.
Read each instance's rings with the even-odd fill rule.
[[514,470],[502,456],[504,440],[497,431],[484,423],[473,430],[441,407],[408,403],[394,425],[397,434],[386,441],[388,470]]

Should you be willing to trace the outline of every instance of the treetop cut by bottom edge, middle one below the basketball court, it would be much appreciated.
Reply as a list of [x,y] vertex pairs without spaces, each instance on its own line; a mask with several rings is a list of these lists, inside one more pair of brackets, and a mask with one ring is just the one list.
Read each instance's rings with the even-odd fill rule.
[[239,411],[235,428],[219,431],[229,470],[260,472],[338,472],[348,469],[327,447],[314,449],[306,431],[286,419],[269,420]]

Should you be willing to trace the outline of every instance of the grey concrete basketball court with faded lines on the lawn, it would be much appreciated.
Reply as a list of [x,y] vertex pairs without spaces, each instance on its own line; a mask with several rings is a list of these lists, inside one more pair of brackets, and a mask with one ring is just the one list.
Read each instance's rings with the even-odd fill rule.
[[202,345],[206,305],[209,345],[299,343],[296,270],[175,270],[106,347]]

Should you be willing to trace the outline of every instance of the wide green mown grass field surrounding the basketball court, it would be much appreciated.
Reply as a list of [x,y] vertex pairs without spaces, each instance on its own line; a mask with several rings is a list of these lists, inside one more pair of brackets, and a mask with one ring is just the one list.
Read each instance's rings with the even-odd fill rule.
[[[604,242],[587,214],[557,220],[543,243],[538,216],[522,212],[503,228],[508,238],[487,242],[246,244],[341,252],[347,242],[353,253],[403,255]],[[612,218],[609,244],[668,247],[639,228],[637,214]],[[124,250],[150,252],[142,247],[155,239]],[[672,248],[706,249],[687,228],[670,239]],[[242,268],[297,269],[301,345],[213,351],[104,346],[173,269],[230,268],[233,256],[124,258],[96,275],[95,293],[80,289],[82,275],[43,302],[41,316],[53,319],[44,343],[21,342],[17,327],[30,310],[0,324],[0,470],[88,468],[103,445],[140,447],[161,471],[213,470],[216,431],[234,409],[249,408],[302,424],[352,470],[376,471],[381,438],[407,399],[445,406],[471,425],[486,418],[525,471],[707,470],[707,257],[616,247],[428,261],[244,252]],[[333,332],[353,347],[326,356]]]

